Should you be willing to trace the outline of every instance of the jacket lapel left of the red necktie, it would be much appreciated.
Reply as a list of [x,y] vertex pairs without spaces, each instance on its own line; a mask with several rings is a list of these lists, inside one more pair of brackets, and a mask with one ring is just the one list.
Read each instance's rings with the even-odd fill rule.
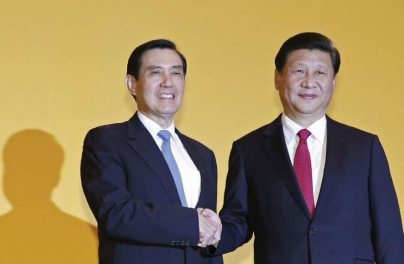
[[262,137],[262,147],[269,163],[283,181],[295,202],[300,206],[308,219],[311,219],[309,209],[300,191],[299,184],[290,162],[285,136],[282,128],[281,115],[270,123]]

